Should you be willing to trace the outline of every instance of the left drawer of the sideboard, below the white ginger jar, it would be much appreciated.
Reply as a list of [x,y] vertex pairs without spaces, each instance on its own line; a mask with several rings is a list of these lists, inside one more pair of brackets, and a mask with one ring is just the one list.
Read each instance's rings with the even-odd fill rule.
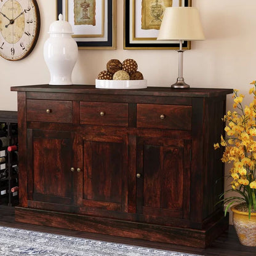
[[26,119],[39,122],[73,122],[73,103],[69,100],[26,100]]

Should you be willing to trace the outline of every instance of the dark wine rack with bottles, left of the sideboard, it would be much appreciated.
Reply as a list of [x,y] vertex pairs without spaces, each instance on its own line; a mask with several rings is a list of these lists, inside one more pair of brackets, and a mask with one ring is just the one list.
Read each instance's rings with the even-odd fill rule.
[[18,204],[18,126],[16,111],[0,111],[0,204]]

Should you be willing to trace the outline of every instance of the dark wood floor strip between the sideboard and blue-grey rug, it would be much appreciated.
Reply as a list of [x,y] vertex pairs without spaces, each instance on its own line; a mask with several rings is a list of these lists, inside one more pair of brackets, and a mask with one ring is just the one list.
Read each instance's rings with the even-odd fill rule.
[[[60,228],[50,228],[48,226],[37,226],[26,223],[15,222],[14,207],[0,206],[0,225],[10,226],[14,228],[23,228],[27,230],[41,231],[47,233],[63,234],[66,236],[76,236],[79,238],[98,239],[102,241],[121,242],[126,244],[133,244],[135,246],[153,247],[159,249],[159,243],[151,242],[150,245],[145,241],[137,239],[125,239],[118,237],[111,237],[102,234],[82,233],[79,231],[64,230]],[[238,237],[233,226],[230,226],[226,233],[217,238],[211,246],[206,249],[176,246],[172,244],[161,244],[160,249],[173,250],[176,252],[186,252],[190,254],[199,254],[206,256],[255,256],[256,247],[242,246],[239,243]]]

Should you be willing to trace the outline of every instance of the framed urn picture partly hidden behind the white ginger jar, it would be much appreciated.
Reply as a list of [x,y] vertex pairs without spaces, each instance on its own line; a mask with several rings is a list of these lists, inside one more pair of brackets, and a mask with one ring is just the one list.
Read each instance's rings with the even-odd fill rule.
[[59,14],[79,49],[116,49],[116,0],[57,0]]

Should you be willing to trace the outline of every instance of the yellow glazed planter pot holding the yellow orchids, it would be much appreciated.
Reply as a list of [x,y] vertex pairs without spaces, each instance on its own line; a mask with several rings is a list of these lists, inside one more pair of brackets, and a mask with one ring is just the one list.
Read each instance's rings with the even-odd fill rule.
[[241,212],[231,207],[233,212],[233,224],[238,234],[239,241],[244,246],[256,246],[256,213]]

